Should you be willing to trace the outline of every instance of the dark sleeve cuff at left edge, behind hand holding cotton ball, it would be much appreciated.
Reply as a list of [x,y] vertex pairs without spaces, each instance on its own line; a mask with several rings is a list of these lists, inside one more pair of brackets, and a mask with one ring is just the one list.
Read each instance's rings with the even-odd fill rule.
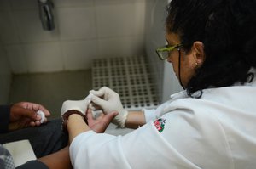
[[0,133],[8,132],[11,105],[0,105]]

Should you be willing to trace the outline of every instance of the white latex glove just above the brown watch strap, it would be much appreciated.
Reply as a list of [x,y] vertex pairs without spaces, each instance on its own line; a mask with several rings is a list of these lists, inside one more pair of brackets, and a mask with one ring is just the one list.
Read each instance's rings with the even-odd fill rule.
[[85,99],[82,100],[66,100],[63,102],[61,107],[61,116],[64,115],[68,110],[77,110],[85,115],[88,105],[90,104],[90,97],[92,94],[89,94]]

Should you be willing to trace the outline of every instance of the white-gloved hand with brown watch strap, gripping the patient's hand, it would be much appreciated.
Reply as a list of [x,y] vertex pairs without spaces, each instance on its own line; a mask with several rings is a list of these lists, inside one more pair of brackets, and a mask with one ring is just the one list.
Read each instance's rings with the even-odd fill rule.
[[85,99],[82,100],[66,100],[63,102],[61,107],[61,129],[63,131],[67,130],[67,119],[69,115],[78,114],[84,117],[84,121],[87,123],[86,111],[88,105],[90,104],[89,94]]

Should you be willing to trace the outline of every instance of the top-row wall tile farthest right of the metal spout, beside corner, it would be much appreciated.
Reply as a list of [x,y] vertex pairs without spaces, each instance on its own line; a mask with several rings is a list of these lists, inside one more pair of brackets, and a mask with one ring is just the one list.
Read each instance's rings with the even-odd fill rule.
[[[140,8],[141,10],[138,10]],[[96,6],[99,37],[142,35],[143,3],[114,3]]]

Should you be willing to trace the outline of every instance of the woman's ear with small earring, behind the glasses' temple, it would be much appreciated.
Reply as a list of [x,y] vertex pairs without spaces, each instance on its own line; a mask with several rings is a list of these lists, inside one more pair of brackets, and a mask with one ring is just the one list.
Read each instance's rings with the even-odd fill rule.
[[196,64],[201,66],[205,61],[204,44],[200,41],[195,41],[192,46],[192,51]]

